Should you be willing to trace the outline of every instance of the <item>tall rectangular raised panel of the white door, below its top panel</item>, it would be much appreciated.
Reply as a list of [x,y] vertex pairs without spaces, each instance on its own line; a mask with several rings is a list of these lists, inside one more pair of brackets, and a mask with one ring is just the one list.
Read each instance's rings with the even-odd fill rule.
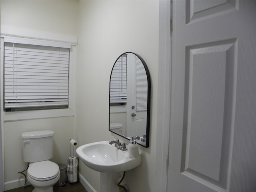
[[[235,40],[233,40],[235,41]],[[182,173],[212,182],[226,183],[230,140],[227,102],[232,100],[234,42],[218,42],[187,48],[185,66],[186,108]],[[224,133],[224,130],[227,132]]]

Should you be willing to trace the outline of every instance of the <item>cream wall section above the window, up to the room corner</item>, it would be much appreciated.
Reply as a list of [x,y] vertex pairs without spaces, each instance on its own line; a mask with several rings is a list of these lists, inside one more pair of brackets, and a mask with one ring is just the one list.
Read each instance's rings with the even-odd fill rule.
[[0,4],[2,26],[76,36],[76,1],[1,0]]

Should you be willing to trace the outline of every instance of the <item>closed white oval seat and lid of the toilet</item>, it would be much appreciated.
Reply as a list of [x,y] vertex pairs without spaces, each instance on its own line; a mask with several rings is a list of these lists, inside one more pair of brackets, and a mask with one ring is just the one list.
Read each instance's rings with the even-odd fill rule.
[[37,181],[54,179],[59,172],[58,164],[49,160],[31,163],[28,167],[28,176]]

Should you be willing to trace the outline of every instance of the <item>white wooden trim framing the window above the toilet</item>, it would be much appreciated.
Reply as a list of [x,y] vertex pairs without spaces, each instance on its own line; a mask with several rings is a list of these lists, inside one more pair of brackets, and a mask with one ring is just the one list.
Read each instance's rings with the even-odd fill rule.
[[[1,108],[4,108],[4,42],[16,41],[18,43],[45,45],[45,46],[60,46],[68,48],[70,47],[70,71],[69,71],[69,107],[66,109],[47,109],[47,110],[32,110],[32,111],[17,111],[17,112],[4,112],[3,121],[17,121],[17,120],[29,120],[38,118],[53,118],[53,117],[64,117],[74,116],[75,106],[75,64],[76,64],[76,45],[69,43],[62,43],[57,41],[49,40],[37,40],[34,38],[17,38],[1,36],[0,38],[0,93],[1,93]],[[68,47],[67,47],[68,46]]]

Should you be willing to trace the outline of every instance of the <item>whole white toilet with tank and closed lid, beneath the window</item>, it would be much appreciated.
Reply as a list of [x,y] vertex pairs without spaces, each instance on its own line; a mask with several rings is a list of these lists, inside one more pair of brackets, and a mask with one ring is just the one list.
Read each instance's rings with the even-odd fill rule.
[[22,133],[23,160],[29,163],[32,192],[53,192],[52,186],[60,178],[58,164],[49,161],[53,158],[53,136],[50,130]]

